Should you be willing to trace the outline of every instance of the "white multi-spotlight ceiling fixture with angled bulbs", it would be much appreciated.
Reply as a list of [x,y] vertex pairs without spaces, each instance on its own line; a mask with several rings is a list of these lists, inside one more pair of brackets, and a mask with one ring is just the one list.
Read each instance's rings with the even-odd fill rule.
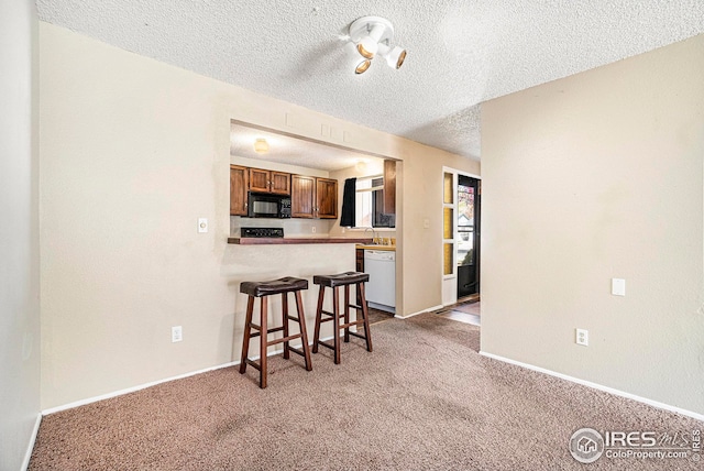
[[384,57],[389,67],[399,68],[406,59],[406,50],[392,46],[394,25],[380,17],[362,17],[350,24],[350,41],[354,43],[362,59],[356,63],[355,74],[364,74],[377,55]]

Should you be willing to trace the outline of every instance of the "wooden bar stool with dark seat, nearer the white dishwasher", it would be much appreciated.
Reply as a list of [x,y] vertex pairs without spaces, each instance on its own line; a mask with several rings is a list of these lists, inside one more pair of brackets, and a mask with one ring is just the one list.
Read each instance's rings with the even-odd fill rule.
[[[318,353],[318,346],[324,346],[334,351],[334,362],[340,363],[340,329],[344,329],[344,341],[350,341],[350,336],[364,339],[366,342],[366,350],[372,351],[372,337],[370,336],[370,316],[366,306],[366,298],[364,296],[364,283],[370,281],[370,275],[366,273],[345,272],[339,275],[316,275],[312,278],[314,284],[320,285],[318,292],[318,309],[316,309],[316,332],[312,341],[312,352]],[[358,304],[350,303],[350,286],[356,287],[356,300]],[[340,296],[339,289],[344,286],[344,310],[340,315]],[[332,288],[332,313],[322,309],[322,303],[324,300],[326,287]],[[358,315],[361,313],[362,318],[354,321],[350,321],[350,308],[358,310]],[[322,318],[322,316],[329,316]],[[343,319],[343,324],[340,324],[340,317]],[[320,325],[332,320],[333,324],[333,342],[332,344],[326,343],[320,340]],[[363,326],[364,335],[358,332],[351,332],[350,327]]]

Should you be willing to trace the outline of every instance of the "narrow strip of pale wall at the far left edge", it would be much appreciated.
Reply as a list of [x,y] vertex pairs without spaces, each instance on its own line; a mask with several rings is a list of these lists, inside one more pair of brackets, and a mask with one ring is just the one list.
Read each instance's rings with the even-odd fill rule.
[[37,21],[0,3],[0,469],[25,463],[40,414]]

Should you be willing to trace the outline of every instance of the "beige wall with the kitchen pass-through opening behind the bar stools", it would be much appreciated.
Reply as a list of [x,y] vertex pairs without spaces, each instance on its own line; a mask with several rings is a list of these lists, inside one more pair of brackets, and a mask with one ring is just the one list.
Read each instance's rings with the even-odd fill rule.
[[404,160],[405,311],[440,304],[441,167],[477,163],[40,26],[43,408],[238,359],[245,276],[354,267],[352,244],[226,244],[231,119]]

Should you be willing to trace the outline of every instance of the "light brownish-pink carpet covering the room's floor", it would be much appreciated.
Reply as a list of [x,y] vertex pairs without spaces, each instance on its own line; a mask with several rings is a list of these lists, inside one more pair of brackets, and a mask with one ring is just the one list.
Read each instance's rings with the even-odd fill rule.
[[56,413],[31,470],[604,470],[701,469],[691,460],[585,465],[571,435],[691,432],[704,424],[481,357],[476,327],[433,314],[373,326],[362,341],[221,369]]

